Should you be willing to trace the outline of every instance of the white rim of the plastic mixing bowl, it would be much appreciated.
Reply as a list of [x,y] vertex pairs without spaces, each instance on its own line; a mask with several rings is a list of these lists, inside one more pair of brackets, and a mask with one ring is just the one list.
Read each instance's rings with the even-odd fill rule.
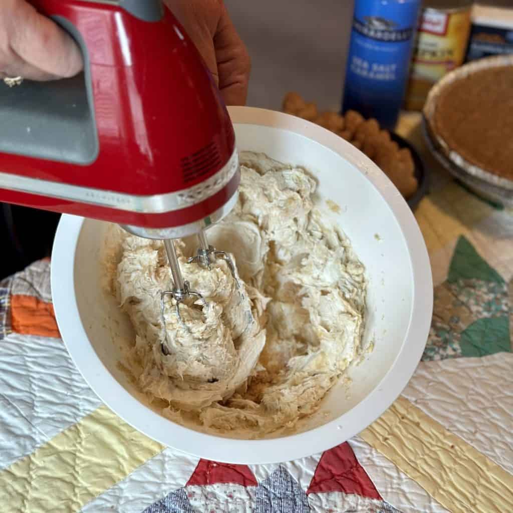
[[409,252],[413,294],[410,323],[401,350],[381,382],[339,418],[281,438],[223,438],[194,431],[162,417],[115,380],[88,340],[74,292],[75,250],[85,219],[74,215],[62,216],[55,236],[51,262],[53,305],[61,337],[76,367],[97,396],[135,429],[165,446],[200,458],[234,464],[280,463],[307,457],[349,440],[379,418],[398,398],[417,368],[429,333],[433,306],[431,266],[423,236],[406,201],[362,152],[338,135],[289,114],[253,107],[230,107],[229,113],[233,124],[288,130],[340,154],[378,189],[392,210]]

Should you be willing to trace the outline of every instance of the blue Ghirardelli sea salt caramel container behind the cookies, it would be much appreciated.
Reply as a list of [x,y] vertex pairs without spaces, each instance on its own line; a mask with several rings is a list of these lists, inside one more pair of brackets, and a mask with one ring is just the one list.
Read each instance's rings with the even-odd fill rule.
[[393,130],[406,90],[421,0],[355,0],[342,112]]

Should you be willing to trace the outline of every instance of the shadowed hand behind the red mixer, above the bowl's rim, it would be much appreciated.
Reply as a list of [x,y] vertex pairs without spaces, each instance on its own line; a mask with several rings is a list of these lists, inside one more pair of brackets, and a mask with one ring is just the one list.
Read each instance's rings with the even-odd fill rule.
[[201,53],[227,105],[244,105],[250,60],[223,0],[165,0]]

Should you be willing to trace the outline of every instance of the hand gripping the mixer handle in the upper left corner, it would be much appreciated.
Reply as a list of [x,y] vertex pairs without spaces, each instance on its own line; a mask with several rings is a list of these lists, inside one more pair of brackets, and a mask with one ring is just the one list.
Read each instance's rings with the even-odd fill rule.
[[72,38],[25,0],[0,0],[0,78],[54,80],[82,70]]

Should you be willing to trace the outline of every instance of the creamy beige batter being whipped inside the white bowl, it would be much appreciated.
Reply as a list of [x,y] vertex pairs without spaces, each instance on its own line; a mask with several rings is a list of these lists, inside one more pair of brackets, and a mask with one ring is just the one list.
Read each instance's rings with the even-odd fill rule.
[[304,169],[249,152],[241,163],[238,203],[207,232],[232,253],[235,276],[223,260],[188,264],[195,238],[175,241],[208,306],[181,305],[184,326],[168,302],[163,326],[171,273],[160,241],[124,234],[112,283],[136,333],[122,364],[162,414],[259,438],[317,411],[360,353],[366,280],[346,236],[314,207]]

